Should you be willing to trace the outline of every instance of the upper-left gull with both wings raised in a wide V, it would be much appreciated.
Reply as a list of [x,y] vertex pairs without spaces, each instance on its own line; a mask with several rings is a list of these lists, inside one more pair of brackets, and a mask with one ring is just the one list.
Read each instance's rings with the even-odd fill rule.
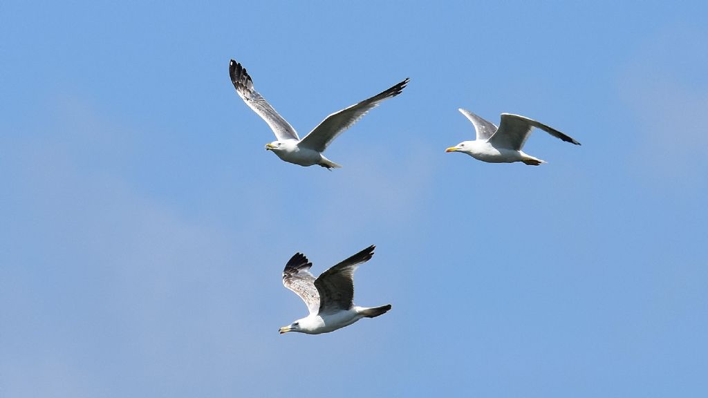
[[232,59],[229,64],[229,74],[234,87],[236,87],[236,93],[246,105],[265,120],[265,123],[268,123],[270,129],[275,133],[277,140],[265,144],[266,151],[273,151],[280,159],[300,166],[319,164],[319,166],[330,170],[341,167],[322,154],[332,140],[366,115],[369,110],[376,108],[379,103],[399,95],[409,81],[406,78],[382,93],[332,113],[300,140],[290,123],[278,115],[273,106],[270,106],[270,103],[253,89],[253,81],[246,72],[246,68]]

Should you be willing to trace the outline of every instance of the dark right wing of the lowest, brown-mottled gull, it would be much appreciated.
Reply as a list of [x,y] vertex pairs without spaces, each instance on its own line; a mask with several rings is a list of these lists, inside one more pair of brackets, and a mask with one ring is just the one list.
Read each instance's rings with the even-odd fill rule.
[[319,314],[350,309],[354,300],[354,271],[360,263],[369,261],[376,246],[369,246],[359,253],[324,271],[314,281],[319,292]]

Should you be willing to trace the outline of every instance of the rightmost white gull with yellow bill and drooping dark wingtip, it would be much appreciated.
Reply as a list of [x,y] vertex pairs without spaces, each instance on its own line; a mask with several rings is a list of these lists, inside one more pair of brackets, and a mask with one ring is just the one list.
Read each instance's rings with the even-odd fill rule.
[[474,125],[477,139],[460,142],[455,147],[445,149],[445,152],[462,152],[474,157],[474,159],[489,163],[523,161],[529,166],[538,166],[546,163],[546,161],[525,154],[521,150],[533,127],[538,127],[565,142],[580,145],[580,142],[573,140],[573,138],[562,132],[520,115],[502,113],[501,124],[497,128],[493,123],[480,118],[469,110],[462,108],[458,110]]

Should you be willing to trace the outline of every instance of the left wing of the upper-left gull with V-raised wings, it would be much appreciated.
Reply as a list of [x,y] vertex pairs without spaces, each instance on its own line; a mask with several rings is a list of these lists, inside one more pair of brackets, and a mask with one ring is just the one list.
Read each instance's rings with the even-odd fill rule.
[[246,68],[232,59],[229,64],[229,74],[234,87],[236,87],[236,93],[239,93],[241,99],[249,108],[253,109],[253,112],[258,113],[265,123],[268,123],[270,130],[273,130],[278,140],[299,140],[297,132],[290,123],[278,115],[278,112],[275,112],[275,109],[270,106],[268,101],[265,101],[258,91],[253,90],[253,81],[249,73],[246,72]]

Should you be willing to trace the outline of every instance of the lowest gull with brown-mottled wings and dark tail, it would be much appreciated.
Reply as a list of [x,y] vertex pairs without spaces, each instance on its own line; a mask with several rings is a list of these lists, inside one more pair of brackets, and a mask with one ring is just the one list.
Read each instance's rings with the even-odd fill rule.
[[367,247],[324,271],[317,279],[309,272],[312,263],[307,257],[300,253],[292,256],[282,271],[282,284],[300,296],[309,309],[309,315],[280,328],[280,334],[288,331],[328,333],[349,326],[364,317],[378,317],[391,309],[390,304],[367,308],[358,307],[353,303],[354,271],[359,264],[370,260],[374,255],[374,248],[375,246]]

